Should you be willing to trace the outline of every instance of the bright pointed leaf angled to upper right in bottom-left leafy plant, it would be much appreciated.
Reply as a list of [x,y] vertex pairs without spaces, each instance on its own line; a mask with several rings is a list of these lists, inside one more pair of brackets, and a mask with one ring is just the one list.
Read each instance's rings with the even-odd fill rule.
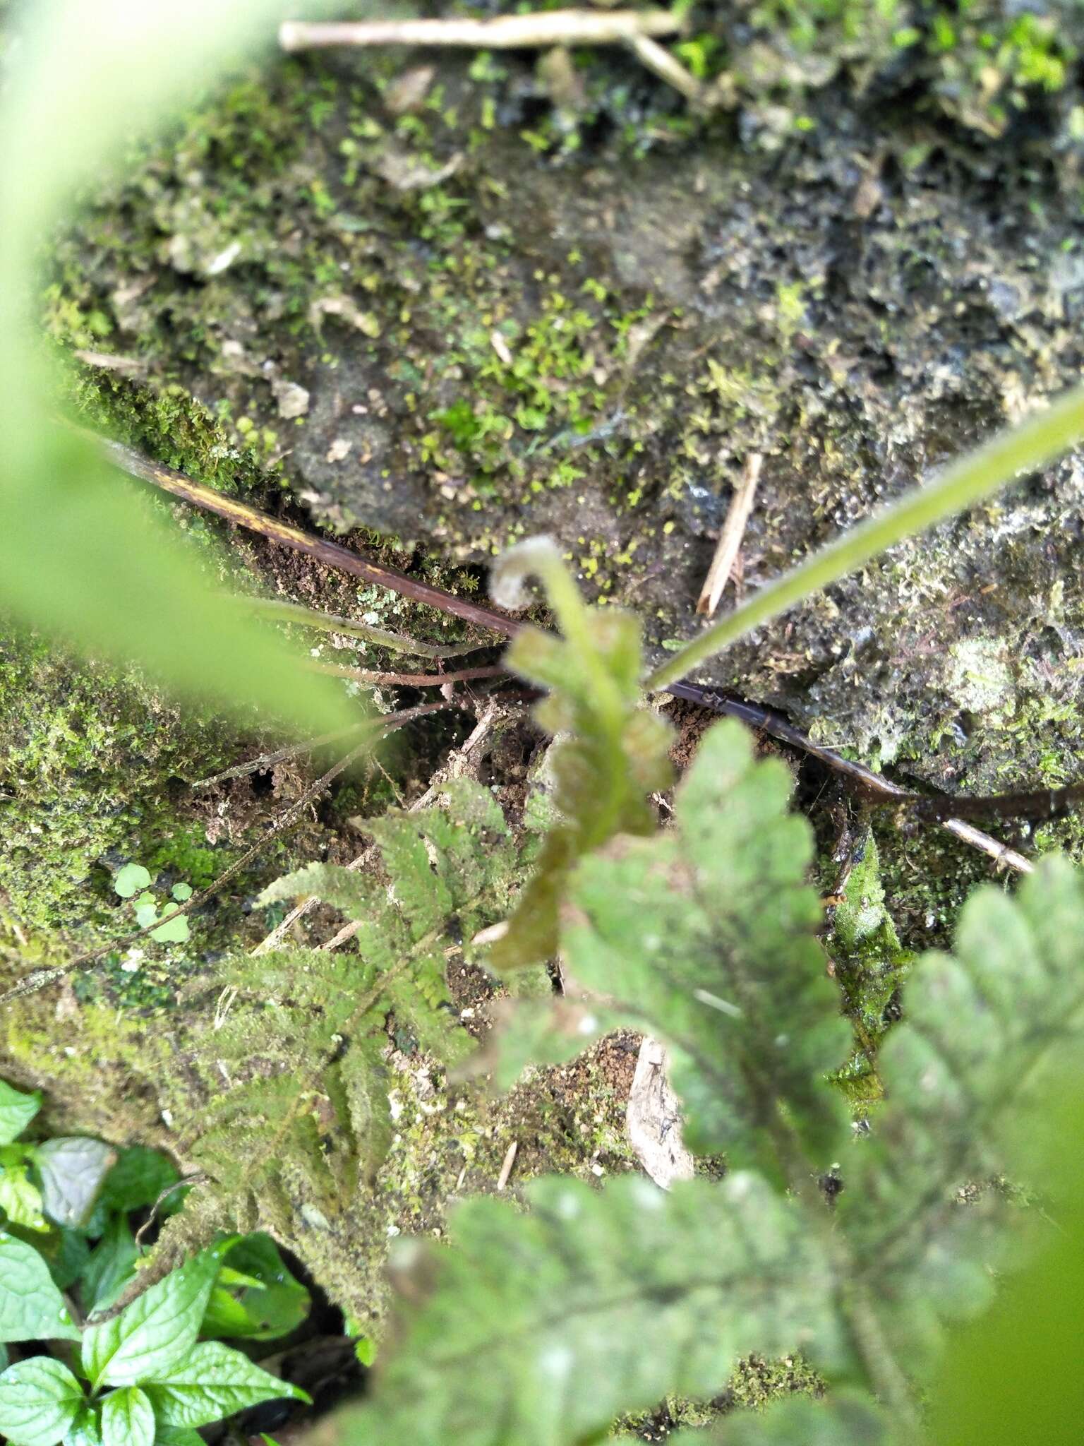
[[119,1316],[87,1327],[82,1365],[95,1390],[147,1381],[188,1356],[224,1254],[221,1245],[201,1251]]

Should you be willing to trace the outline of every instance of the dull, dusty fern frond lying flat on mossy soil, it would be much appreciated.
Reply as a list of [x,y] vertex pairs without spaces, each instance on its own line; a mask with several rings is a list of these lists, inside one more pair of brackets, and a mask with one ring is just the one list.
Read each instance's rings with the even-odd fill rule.
[[[386,1021],[445,1066],[473,1050],[448,995],[447,951],[509,908],[517,852],[489,790],[448,784],[442,807],[369,820],[389,882],[331,865],[279,879],[262,902],[315,894],[358,925],[356,951],[238,957],[212,1035],[215,1096],[194,1112],[191,1155],[237,1210],[283,1176],[314,1207],[350,1197],[390,1142]],[[230,1083],[223,1089],[223,1077]]]

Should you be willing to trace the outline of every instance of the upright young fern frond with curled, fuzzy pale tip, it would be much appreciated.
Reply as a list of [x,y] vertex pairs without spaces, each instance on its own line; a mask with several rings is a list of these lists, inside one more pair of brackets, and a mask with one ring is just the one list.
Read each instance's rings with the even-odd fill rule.
[[637,620],[617,610],[587,609],[545,538],[520,542],[500,558],[494,597],[504,606],[523,606],[522,583],[530,574],[543,580],[564,639],[525,628],[506,659],[548,690],[535,716],[549,733],[561,735],[549,763],[561,821],[549,830],[509,933],[493,950],[499,970],[555,951],[556,908],[568,870],[617,833],[649,833],[653,817],[646,795],[669,781],[666,724],[642,704]]

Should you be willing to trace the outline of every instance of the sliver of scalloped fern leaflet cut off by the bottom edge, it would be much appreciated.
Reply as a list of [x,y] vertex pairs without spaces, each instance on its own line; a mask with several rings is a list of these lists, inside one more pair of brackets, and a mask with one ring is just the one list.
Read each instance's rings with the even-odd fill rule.
[[678,1432],[668,1446],[890,1446],[893,1440],[899,1437],[872,1400],[833,1391],[824,1401],[799,1397],[765,1411],[736,1411],[711,1432]]

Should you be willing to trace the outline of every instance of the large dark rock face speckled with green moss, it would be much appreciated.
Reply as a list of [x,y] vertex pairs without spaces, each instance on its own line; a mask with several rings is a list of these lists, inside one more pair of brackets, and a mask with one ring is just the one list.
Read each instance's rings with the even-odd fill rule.
[[[597,64],[635,110],[648,81]],[[419,69],[247,81],[68,243],[71,304],[315,522],[467,565],[551,532],[661,658],[700,626],[750,451],[724,606],[1078,376],[1080,168],[1052,114],[977,134],[834,82],[767,149],[743,113],[650,140],[640,104],[637,145],[610,123],[555,155],[528,62]],[[942,787],[1059,782],[1083,499],[1071,458],[698,677]]]

